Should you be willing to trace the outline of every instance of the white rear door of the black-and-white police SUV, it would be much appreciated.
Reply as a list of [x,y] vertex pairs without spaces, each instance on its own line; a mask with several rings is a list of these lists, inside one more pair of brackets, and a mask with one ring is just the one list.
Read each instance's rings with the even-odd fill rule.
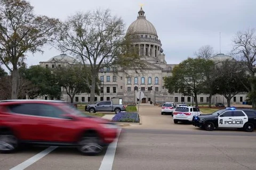
[[243,111],[234,111],[232,124],[234,128],[243,128],[244,124],[248,121],[248,116]]

